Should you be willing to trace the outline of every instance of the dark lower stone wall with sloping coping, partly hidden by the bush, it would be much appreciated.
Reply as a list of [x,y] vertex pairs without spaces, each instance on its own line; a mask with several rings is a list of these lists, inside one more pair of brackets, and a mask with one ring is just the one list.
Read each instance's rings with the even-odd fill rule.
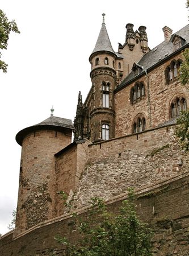
[[[148,221],[155,232],[154,256],[188,256],[189,251],[189,176],[179,175],[153,187],[136,191],[137,212]],[[107,201],[108,210],[116,212],[127,193]],[[85,217],[89,208],[78,210]],[[15,230],[0,238],[1,256],[49,256],[63,255],[64,247],[54,237],[68,237],[78,241],[78,233],[72,223],[72,214],[43,222],[18,237]]]

